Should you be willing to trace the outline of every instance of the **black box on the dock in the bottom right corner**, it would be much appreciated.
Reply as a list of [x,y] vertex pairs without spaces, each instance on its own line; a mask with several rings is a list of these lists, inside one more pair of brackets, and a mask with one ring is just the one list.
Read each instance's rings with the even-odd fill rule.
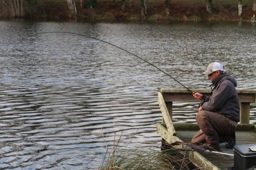
[[256,144],[242,144],[234,146],[234,170],[246,170],[256,165],[256,152],[249,147]]

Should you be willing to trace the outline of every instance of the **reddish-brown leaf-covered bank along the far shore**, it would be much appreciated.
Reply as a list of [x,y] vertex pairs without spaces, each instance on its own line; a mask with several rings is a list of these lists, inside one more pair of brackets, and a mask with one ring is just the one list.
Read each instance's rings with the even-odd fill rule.
[[[205,1],[179,0],[170,2],[170,16],[166,16],[163,0],[148,2],[146,17],[141,17],[139,1],[126,1],[125,10],[122,3],[98,1],[94,9],[89,8],[86,1],[81,8],[80,0],[76,1],[77,15],[70,14],[67,2],[47,1],[29,9],[26,17],[30,18],[80,18],[80,19],[125,19],[125,20],[250,20],[256,11],[252,9],[252,1],[243,3],[242,17],[237,17],[238,3],[234,1],[213,1],[213,14],[207,14]],[[0,17],[12,17],[4,4],[0,6]]]

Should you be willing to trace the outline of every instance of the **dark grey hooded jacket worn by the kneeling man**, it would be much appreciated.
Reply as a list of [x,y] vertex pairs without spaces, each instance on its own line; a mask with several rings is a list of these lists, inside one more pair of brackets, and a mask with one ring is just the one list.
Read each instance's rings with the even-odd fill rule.
[[211,98],[203,96],[205,100],[202,108],[205,111],[221,114],[228,119],[240,121],[240,104],[236,92],[236,80],[229,74],[224,73],[220,77],[212,79],[215,85]]

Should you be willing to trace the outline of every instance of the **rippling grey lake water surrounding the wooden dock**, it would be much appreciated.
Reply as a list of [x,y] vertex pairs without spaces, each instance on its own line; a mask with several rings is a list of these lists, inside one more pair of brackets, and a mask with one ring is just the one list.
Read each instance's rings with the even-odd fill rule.
[[[114,133],[160,144],[160,88],[209,88],[211,62],[256,89],[256,24],[0,19],[0,168],[97,169]],[[175,102],[173,122],[196,123],[197,102]],[[250,123],[256,122],[251,103]]]

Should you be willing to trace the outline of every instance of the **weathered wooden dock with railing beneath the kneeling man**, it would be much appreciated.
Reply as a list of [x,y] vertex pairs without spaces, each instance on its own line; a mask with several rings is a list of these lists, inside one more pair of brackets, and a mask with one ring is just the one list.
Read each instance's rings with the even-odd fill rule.
[[[209,96],[210,90],[191,89],[195,93]],[[256,125],[249,124],[250,102],[255,102],[255,90],[237,90],[240,101],[240,124],[236,129],[236,144],[256,144]],[[157,124],[157,133],[165,142],[191,142],[191,139],[200,128],[197,124],[172,123],[172,102],[198,102],[190,91],[186,89],[161,89],[158,93],[158,103],[163,114],[163,122]],[[186,145],[178,147],[186,148]],[[221,151],[233,154],[233,149],[225,148],[225,143],[220,144]],[[233,167],[233,156],[224,156],[215,153],[189,153],[189,160],[201,170],[227,170]]]

